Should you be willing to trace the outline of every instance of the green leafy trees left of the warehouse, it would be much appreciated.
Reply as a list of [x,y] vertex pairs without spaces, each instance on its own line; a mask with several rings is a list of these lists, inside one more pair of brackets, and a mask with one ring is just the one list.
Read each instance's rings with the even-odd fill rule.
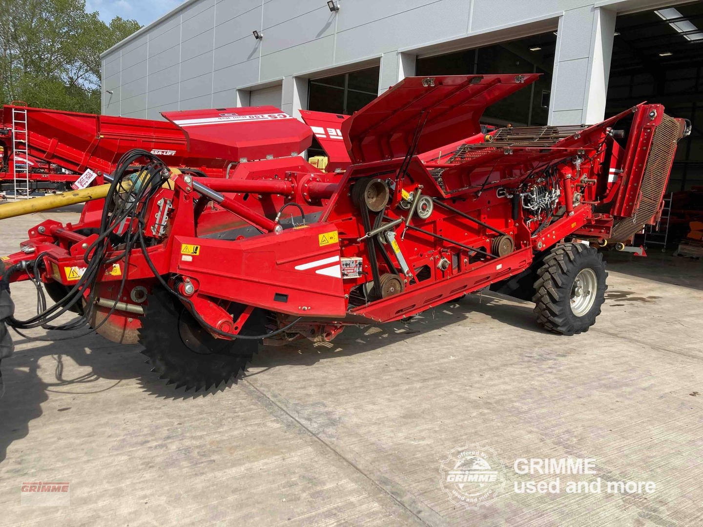
[[100,53],[141,26],[105,24],[85,0],[2,0],[0,103],[100,113]]

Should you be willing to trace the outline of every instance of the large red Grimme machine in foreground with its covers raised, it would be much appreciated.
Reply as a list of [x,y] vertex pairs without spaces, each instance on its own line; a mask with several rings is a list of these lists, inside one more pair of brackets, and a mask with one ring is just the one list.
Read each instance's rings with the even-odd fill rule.
[[262,342],[329,341],[489,286],[533,300],[547,330],[586,331],[606,289],[597,247],[657,220],[688,126],[643,103],[591,126],[482,133],[485,108],[536,78],[406,78],[329,126],[349,157],[337,173],[297,155],[313,131],[280,110],[165,112],[188,156],[236,161],[229,177],[125,153],[110,183],[75,193],[78,223],[43,221],[2,258],[6,282],[55,301],[6,323],[56,329],[74,311],[186,389],[228,381]]

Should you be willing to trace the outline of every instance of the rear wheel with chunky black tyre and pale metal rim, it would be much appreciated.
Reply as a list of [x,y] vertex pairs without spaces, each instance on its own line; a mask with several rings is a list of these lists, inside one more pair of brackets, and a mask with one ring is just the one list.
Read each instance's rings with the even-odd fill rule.
[[552,249],[534,283],[537,323],[562,335],[588,331],[605,301],[607,275],[593,247],[567,243]]

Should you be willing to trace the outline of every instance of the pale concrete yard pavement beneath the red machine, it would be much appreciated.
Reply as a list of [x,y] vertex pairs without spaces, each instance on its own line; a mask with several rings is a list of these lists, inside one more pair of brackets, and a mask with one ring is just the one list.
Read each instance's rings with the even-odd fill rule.
[[[46,217],[77,215],[4,220],[0,254]],[[697,525],[701,265],[606,259],[607,301],[586,334],[548,334],[531,304],[472,295],[408,325],[264,349],[206,395],[163,386],[140,346],[17,337],[2,363],[0,525]],[[18,317],[33,314],[34,288],[12,291]],[[477,509],[441,486],[465,445],[492,449],[505,483]],[[519,458],[590,458],[595,474],[561,482],[656,490],[516,493],[556,477],[517,474]],[[20,505],[22,482],[57,479],[70,506]]]

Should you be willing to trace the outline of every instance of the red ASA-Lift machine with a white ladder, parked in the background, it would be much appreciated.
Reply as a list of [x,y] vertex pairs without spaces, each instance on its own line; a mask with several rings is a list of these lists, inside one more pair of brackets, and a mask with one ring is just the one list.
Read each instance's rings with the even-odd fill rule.
[[198,176],[227,177],[239,162],[192,154],[188,138],[172,122],[46,110],[23,103],[5,105],[0,112],[0,184],[17,180],[16,187],[25,191],[68,190],[86,169],[98,174],[102,183],[102,174],[114,171],[122,155],[134,148]]

